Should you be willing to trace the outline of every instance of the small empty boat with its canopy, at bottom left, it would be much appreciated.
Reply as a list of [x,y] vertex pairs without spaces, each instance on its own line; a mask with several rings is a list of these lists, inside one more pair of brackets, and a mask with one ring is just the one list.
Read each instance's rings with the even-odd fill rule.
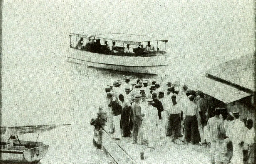
[[[11,134],[8,141],[1,141],[0,163],[38,163],[47,153],[49,145],[42,142],[23,141],[18,138],[20,134],[46,132],[56,127],[68,125],[36,125],[36,126],[10,126],[1,127],[1,134]],[[70,124],[69,124],[70,125]]]

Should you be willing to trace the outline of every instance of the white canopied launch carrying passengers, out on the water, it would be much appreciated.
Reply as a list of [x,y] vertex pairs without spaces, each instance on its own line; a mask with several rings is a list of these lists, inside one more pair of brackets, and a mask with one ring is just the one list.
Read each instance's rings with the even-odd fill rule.
[[[160,43],[164,43],[165,49],[168,41],[166,39],[124,33],[90,36],[83,33],[69,33],[69,37],[70,53],[66,56],[68,62],[154,75],[158,75],[168,66],[167,53],[158,47]],[[85,41],[87,41],[86,44],[84,44]],[[112,42],[112,45],[108,46],[106,41]],[[143,44],[146,45],[147,42],[156,43],[156,48],[151,45],[149,49],[143,48]]]

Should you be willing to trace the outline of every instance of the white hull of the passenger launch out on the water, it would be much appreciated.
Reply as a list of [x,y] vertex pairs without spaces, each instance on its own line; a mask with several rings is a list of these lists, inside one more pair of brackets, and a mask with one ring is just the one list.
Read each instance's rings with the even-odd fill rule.
[[74,48],[71,48],[70,50],[71,52],[67,56],[68,62],[96,68],[158,75],[168,66],[165,55],[154,57],[131,57],[91,53]]

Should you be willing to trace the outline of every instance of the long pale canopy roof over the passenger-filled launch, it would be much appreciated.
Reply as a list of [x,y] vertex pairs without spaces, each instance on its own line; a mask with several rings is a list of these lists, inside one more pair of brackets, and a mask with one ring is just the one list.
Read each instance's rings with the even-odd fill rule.
[[126,33],[107,33],[107,34],[97,34],[97,35],[84,35],[84,34],[78,34],[78,33],[69,33],[69,36],[77,36],[77,37],[84,37],[84,38],[101,38],[101,39],[109,39],[113,40],[117,43],[125,43],[130,45],[140,45],[142,42],[148,42],[148,41],[163,41],[167,42],[167,39],[164,38],[156,38],[146,35],[135,35],[135,34],[126,34]]

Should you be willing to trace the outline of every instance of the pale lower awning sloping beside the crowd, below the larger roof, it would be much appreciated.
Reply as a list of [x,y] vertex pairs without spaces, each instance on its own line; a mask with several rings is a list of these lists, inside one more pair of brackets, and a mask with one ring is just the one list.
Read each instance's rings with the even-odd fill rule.
[[230,85],[214,81],[207,77],[192,79],[187,81],[185,84],[189,89],[199,90],[224,103],[232,103],[244,97],[251,96],[250,93],[246,93]]

